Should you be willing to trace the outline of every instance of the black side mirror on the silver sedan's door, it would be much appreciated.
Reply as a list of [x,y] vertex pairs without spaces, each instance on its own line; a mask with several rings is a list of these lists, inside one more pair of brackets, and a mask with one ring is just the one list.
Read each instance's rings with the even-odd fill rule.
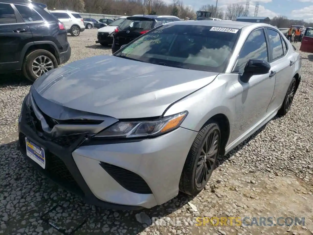
[[265,60],[250,59],[244,67],[244,73],[241,76],[241,81],[248,82],[251,76],[267,74],[271,69],[269,62]]

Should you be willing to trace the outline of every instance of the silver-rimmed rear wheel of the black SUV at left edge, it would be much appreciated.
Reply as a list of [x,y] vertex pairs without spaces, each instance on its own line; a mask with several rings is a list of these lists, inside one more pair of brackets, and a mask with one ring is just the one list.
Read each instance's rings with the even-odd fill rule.
[[22,71],[29,81],[36,81],[44,73],[58,67],[55,56],[47,50],[33,50],[26,55]]

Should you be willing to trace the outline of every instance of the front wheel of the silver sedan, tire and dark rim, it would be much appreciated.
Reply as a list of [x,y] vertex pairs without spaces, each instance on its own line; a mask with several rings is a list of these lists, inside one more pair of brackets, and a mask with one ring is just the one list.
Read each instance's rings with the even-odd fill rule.
[[179,182],[179,190],[196,196],[208,183],[220,149],[221,131],[217,123],[204,126],[196,136],[187,155]]

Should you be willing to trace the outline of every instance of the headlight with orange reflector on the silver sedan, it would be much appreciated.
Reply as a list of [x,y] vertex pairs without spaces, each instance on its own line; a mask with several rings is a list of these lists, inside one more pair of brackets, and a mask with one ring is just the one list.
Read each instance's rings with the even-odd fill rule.
[[117,122],[101,131],[95,137],[148,137],[168,133],[178,128],[188,112],[184,111],[157,120]]

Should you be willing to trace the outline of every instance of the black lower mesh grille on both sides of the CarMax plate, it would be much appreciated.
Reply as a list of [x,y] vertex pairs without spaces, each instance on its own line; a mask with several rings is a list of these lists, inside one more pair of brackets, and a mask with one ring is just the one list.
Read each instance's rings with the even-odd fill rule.
[[[26,143],[25,143],[25,135],[23,133],[19,134],[19,144],[21,146],[21,150],[26,153]],[[60,182],[62,185],[70,185],[75,191],[79,191],[82,193],[79,185],[74,180],[74,177],[67,169],[64,162],[56,155],[50,153],[49,151],[45,150],[46,156],[46,168],[44,169],[46,175],[51,177],[52,180],[56,182]]]

